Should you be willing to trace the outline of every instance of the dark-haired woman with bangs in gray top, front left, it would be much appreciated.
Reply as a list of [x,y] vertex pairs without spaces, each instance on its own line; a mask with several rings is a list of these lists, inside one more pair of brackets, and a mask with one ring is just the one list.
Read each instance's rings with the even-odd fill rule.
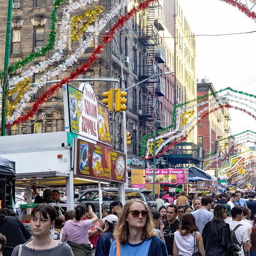
[[53,207],[39,204],[32,210],[31,217],[31,232],[34,240],[16,246],[12,256],[73,256],[68,244],[59,243],[50,237],[50,229],[56,219],[56,211]]

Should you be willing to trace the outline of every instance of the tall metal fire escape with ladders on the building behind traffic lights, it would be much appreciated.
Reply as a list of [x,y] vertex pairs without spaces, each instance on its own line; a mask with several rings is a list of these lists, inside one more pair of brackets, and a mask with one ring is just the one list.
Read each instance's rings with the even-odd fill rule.
[[[163,30],[164,27],[161,25],[164,23],[164,16],[159,22],[159,10],[160,6],[158,3],[154,3],[153,5],[149,6],[146,10],[146,26],[141,27],[139,31],[139,41],[143,43],[144,50],[147,52],[146,61],[142,63],[140,66],[140,74],[139,79],[140,81],[150,78],[153,75],[158,74],[157,70],[155,70],[155,59],[157,58],[161,63],[165,62],[165,59],[161,58],[162,54],[165,54],[165,49],[162,44],[160,44],[158,39],[158,33],[156,32],[157,27],[158,30]],[[161,11],[162,13],[162,11]],[[163,13],[162,13],[163,14]],[[161,49],[161,50],[159,50]],[[161,53],[161,54],[160,54]],[[160,56],[160,58],[159,58]],[[165,58],[165,57],[164,57]],[[165,92],[161,90],[161,78],[155,76],[154,78],[148,79],[143,83],[142,91],[144,92],[143,95],[145,96],[142,99],[142,110],[140,112],[139,119],[140,121],[144,122],[149,127],[152,127],[150,124],[154,121],[154,98],[155,94],[159,96],[164,96]],[[164,85],[165,91],[165,85]],[[158,113],[158,120],[160,119]],[[162,118],[161,118],[162,119]]]

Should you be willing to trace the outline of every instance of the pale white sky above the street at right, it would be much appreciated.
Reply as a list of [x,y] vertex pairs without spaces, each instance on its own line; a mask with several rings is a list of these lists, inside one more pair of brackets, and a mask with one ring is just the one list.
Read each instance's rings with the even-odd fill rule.
[[[254,20],[236,7],[220,0],[180,0],[180,2],[196,35],[256,31]],[[256,12],[256,6],[253,10]],[[206,77],[213,83],[216,91],[231,87],[256,95],[255,45],[256,32],[226,36],[196,36],[197,78]],[[247,129],[256,132],[255,119],[237,110],[229,111],[232,118],[231,134],[244,132]]]

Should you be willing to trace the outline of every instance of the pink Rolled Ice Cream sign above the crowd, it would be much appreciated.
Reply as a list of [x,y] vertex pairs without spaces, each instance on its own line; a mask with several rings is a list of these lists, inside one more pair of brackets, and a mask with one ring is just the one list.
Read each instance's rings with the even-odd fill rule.
[[[146,184],[153,183],[153,169],[145,170]],[[188,169],[156,169],[155,183],[187,184]]]

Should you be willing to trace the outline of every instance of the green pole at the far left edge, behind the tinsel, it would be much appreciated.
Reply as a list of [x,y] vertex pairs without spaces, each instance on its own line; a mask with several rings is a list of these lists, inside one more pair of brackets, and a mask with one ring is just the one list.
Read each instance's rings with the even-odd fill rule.
[[4,74],[3,74],[3,84],[2,84],[2,114],[1,114],[1,136],[6,135],[6,100],[7,100],[7,91],[8,91],[8,65],[10,57],[10,43],[11,43],[11,20],[12,20],[12,2],[8,2],[8,14],[7,14],[7,26],[6,26],[6,40],[5,40],[5,60],[4,60]]

